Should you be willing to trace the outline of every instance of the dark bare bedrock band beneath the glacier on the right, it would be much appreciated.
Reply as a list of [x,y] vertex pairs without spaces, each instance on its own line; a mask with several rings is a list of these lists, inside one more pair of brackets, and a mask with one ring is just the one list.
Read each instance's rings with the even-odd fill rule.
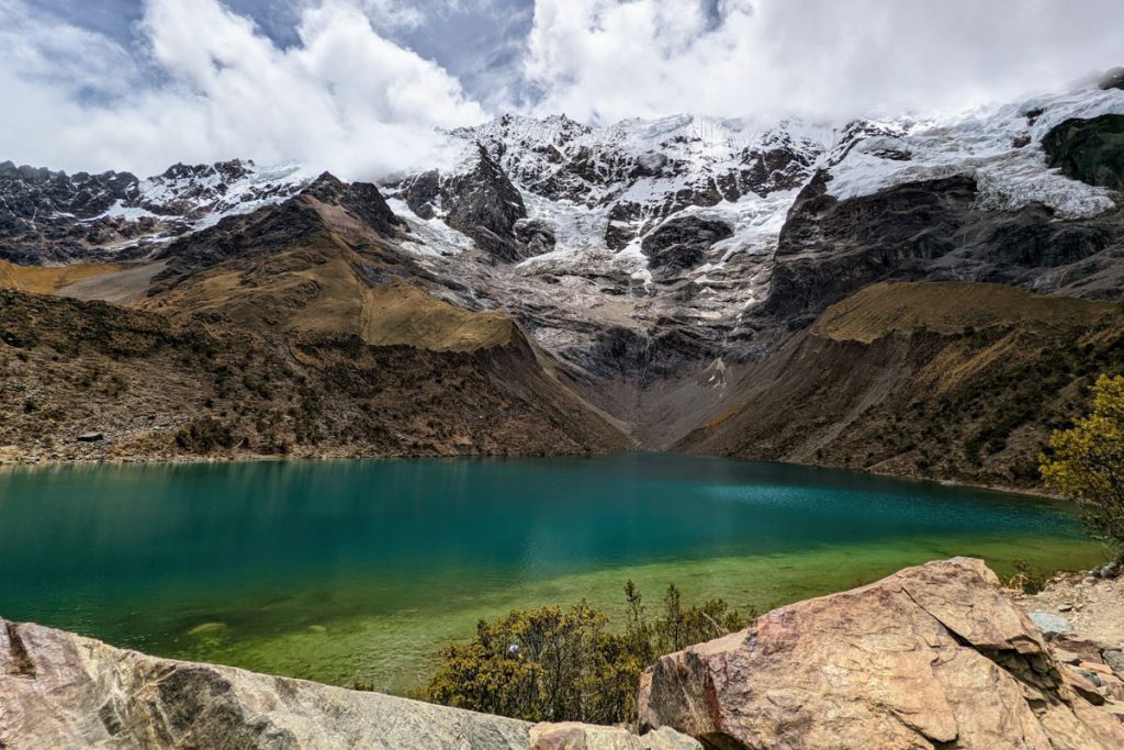
[[821,172],[792,205],[755,317],[799,327],[886,279],[989,281],[1096,298],[1124,292],[1120,211],[1061,219],[1037,204],[982,210],[976,180],[966,175],[846,200],[830,191]]

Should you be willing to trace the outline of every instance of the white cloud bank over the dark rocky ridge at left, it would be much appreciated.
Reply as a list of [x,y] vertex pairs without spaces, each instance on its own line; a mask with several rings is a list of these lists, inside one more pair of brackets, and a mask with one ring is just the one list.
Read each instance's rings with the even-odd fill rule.
[[306,7],[287,48],[217,0],[148,0],[143,71],[103,36],[0,3],[6,159],[152,173],[241,156],[371,178],[425,163],[435,128],[486,118],[347,0]]

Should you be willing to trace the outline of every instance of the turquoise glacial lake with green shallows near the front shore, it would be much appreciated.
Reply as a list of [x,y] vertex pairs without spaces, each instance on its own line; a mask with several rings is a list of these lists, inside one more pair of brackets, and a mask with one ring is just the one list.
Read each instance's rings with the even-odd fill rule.
[[408,692],[513,608],[764,612],[968,554],[1077,569],[1058,504],[668,454],[0,471],[0,615],[120,647]]

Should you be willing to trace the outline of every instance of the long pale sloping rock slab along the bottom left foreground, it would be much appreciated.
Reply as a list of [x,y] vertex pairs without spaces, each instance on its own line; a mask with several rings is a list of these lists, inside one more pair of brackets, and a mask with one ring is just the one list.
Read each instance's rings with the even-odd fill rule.
[[692,750],[676,732],[637,738],[532,725],[242,669],[157,659],[0,620],[0,748],[375,748]]

